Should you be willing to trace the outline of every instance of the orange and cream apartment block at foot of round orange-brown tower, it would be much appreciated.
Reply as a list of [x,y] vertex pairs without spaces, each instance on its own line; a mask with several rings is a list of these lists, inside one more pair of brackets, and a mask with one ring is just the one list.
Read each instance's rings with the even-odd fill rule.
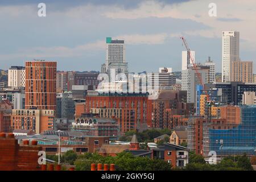
[[53,130],[55,110],[13,109],[11,127],[13,130],[33,130],[40,134]]

